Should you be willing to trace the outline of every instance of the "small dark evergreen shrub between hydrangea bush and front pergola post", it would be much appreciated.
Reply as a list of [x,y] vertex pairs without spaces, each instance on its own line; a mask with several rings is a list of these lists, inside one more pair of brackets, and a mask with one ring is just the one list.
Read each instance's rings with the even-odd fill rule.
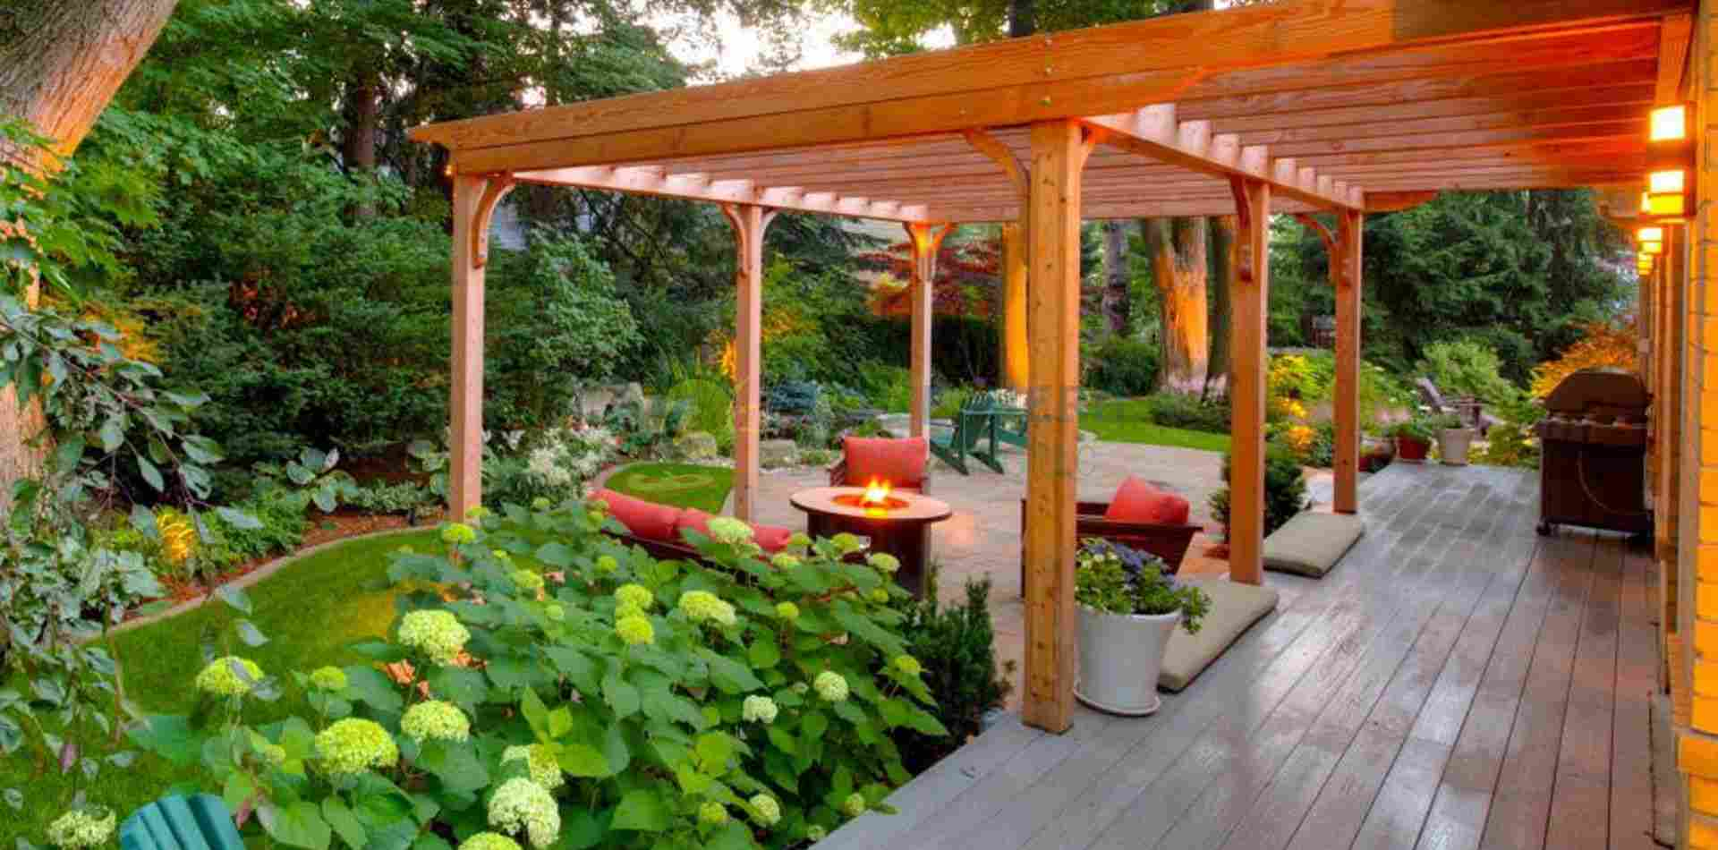
[[[935,586],[933,577],[928,587]],[[924,666],[924,683],[936,697],[936,719],[948,730],[948,735],[926,735],[911,726],[895,728],[895,747],[907,769],[917,773],[983,730],[984,714],[1007,702],[1014,668],[1010,663],[996,670],[990,577],[967,579],[962,604],[941,606],[928,594],[907,603],[905,613],[904,637]]]

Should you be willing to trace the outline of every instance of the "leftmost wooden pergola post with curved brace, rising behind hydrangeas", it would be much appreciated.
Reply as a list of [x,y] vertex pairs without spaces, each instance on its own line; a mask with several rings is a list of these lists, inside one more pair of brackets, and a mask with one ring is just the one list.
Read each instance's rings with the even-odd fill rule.
[[512,191],[509,175],[454,177],[454,362],[448,381],[448,512],[454,522],[483,503],[483,266],[490,218]]

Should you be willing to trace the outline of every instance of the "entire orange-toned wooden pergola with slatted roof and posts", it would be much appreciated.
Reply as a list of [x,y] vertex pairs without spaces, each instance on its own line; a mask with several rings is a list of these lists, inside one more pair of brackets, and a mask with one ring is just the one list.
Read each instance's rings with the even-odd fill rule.
[[445,146],[454,173],[452,508],[479,501],[488,222],[517,182],[722,204],[739,244],[747,519],[775,213],[911,234],[914,434],[929,428],[936,242],[952,225],[1000,222],[1007,376],[1024,378],[1031,409],[1024,716],[1062,730],[1081,220],[1239,216],[1230,575],[1258,584],[1270,216],[1301,216],[1330,251],[1335,508],[1356,512],[1364,215],[1452,189],[1637,187],[1648,112],[1685,100],[1692,12],[1692,0],[1295,0],[419,127],[412,139]]

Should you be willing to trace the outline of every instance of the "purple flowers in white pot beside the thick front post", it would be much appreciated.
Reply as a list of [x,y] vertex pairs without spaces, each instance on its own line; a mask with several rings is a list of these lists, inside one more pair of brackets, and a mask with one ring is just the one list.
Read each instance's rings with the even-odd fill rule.
[[1197,632],[1211,598],[1177,584],[1156,555],[1087,539],[1075,558],[1074,599],[1081,671],[1074,695],[1112,714],[1154,713],[1170,632],[1177,625]]

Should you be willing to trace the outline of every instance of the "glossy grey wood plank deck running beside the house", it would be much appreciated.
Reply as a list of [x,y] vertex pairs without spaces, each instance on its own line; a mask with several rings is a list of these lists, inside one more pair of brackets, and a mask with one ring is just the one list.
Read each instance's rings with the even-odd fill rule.
[[819,850],[1649,848],[1649,553],[1538,477],[1392,465],[1368,534],[1163,709],[1012,716]]

